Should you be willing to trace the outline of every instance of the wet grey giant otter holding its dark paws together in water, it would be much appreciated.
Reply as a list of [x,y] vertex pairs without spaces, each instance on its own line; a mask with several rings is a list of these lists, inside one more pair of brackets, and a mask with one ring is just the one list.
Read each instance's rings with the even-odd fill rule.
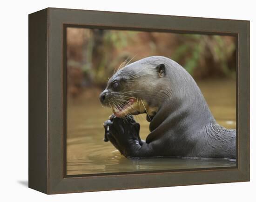
[[[236,130],[220,126],[190,74],[178,63],[152,56],[118,70],[100,95],[114,114],[105,141],[126,157],[236,159]],[[147,114],[146,141],[132,115]]]

